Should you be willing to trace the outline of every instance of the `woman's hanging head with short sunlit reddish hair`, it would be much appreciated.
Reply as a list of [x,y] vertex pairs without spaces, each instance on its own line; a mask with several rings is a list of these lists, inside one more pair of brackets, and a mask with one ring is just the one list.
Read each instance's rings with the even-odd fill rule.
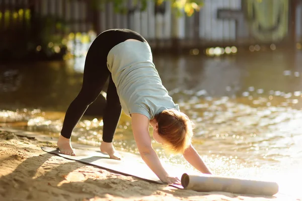
[[174,153],[183,153],[193,136],[190,119],[184,113],[171,109],[157,114],[154,120],[154,139]]

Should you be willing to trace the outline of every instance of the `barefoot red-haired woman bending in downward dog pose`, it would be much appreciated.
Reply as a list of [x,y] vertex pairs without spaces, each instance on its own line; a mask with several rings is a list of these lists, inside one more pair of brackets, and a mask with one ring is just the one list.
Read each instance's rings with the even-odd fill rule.
[[107,30],[92,43],[85,61],[82,89],[67,109],[57,142],[61,153],[75,155],[70,144],[72,130],[98,97],[108,77],[102,152],[119,159],[112,140],[123,109],[131,117],[142,159],[163,182],[180,184],[179,178],[169,176],[152,148],[149,124],[157,142],[175,153],[182,153],[195,168],[210,174],[190,143],[192,122],[179,111],[163,86],[147,41],[128,29]]

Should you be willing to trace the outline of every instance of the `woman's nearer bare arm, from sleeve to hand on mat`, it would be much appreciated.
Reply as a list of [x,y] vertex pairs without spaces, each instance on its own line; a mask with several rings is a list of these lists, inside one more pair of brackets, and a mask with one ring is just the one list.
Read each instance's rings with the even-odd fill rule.
[[131,123],[134,139],[143,161],[163,182],[179,184],[180,180],[177,177],[169,176],[152,148],[149,119],[144,115],[133,113],[131,114]]

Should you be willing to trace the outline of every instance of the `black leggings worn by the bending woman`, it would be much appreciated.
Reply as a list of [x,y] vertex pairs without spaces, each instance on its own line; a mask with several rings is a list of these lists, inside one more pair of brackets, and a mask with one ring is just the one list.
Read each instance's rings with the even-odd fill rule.
[[121,115],[121,105],[111,73],[107,68],[107,55],[115,45],[127,39],[136,39],[147,43],[141,35],[128,29],[107,30],[93,41],[85,60],[82,89],[66,111],[61,130],[63,137],[71,137],[75,125],[78,124],[88,106],[97,99],[109,77],[103,115],[103,141],[112,142]]

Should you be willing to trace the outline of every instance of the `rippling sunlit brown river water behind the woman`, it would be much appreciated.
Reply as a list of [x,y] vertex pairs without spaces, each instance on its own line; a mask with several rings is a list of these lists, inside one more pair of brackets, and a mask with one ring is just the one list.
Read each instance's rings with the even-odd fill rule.
[[[81,88],[84,60],[2,66],[0,126],[58,136]],[[195,123],[193,144],[215,174],[275,180],[282,193],[301,196],[301,52],[154,60],[169,93]],[[84,117],[72,140],[99,145],[102,125],[100,117]],[[138,153],[125,115],[114,144]],[[153,144],[166,162],[192,169]]]

